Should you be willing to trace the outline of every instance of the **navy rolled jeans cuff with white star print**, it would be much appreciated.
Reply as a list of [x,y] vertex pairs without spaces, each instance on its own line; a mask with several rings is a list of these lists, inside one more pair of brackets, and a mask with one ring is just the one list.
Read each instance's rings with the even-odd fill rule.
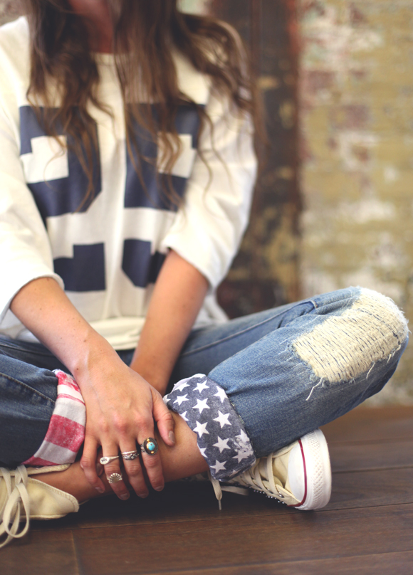
[[178,381],[164,402],[197,433],[199,451],[214,479],[229,480],[256,462],[244,423],[224,389],[206,375]]

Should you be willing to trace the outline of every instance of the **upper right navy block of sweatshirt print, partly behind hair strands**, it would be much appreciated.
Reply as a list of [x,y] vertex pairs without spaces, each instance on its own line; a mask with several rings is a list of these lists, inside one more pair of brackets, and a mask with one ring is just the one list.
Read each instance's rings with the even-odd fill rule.
[[[156,107],[152,105],[152,117],[156,124]],[[194,107],[182,105],[177,110],[175,119],[178,134],[187,134],[192,137],[192,147],[197,148],[200,120],[197,110]],[[160,210],[176,211],[177,206],[165,196],[164,184],[169,181],[164,174],[157,173],[157,142],[147,130],[137,125],[135,122],[135,139],[137,148],[143,159],[137,157],[135,149],[132,148],[133,162],[127,154],[126,184],[125,184],[125,208],[152,208]],[[140,167],[141,178],[145,185],[142,185],[140,176],[137,175],[135,166]],[[173,172],[173,169],[172,169]],[[187,186],[187,178],[182,176],[171,176],[172,186],[177,196],[184,195]]]

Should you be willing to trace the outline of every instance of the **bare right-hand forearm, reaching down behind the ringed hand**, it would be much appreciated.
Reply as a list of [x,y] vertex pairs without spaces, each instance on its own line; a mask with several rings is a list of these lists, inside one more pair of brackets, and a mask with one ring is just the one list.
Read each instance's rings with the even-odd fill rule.
[[206,278],[171,250],[157,278],[130,365],[162,395],[207,290]]

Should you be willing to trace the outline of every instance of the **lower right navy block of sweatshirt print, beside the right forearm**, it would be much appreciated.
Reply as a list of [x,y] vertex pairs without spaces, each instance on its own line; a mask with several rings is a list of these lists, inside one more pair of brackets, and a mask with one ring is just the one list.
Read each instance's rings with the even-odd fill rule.
[[125,240],[123,244],[122,270],[137,288],[146,288],[160,273],[165,255],[151,254],[150,241]]

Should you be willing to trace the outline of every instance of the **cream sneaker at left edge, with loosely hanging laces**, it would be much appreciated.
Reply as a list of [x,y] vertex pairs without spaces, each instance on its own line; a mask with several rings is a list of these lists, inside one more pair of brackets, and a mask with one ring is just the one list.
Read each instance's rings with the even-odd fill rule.
[[[78,500],[73,495],[32,479],[29,475],[51,471],[63,471],[68,465],[51,465],[46,468],[17,469],[0,468],[0,543],[4,547],[14,537],[23,537],[28,531],[30,519],[58,519],[79,510]],[[19,522],[26,521],[19,531]]]

